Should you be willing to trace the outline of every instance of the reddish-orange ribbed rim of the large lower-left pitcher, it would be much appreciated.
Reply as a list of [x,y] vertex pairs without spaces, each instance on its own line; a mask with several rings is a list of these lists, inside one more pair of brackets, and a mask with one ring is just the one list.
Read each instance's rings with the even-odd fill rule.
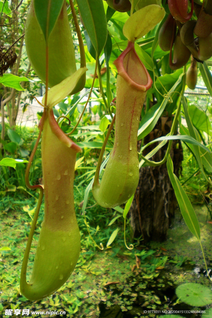
[[82,149],[78,145],[76,145],[68,136],[66,136],[62,129],[58,126],[58,123],[54,118],[52,109],[49,109],[48,120],[52,133],[55,134],[61,142],[65,143],[67,147],[72,148],[76,152],[82,152]]

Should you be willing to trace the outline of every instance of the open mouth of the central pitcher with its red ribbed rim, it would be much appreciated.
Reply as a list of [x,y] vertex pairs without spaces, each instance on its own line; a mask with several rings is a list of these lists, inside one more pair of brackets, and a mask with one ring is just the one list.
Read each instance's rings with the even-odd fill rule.
[[138,91],[147,91],[152,86],[152,79],[135,51],[133,42],[128,42],[127,48],[113,62],[118,74]]

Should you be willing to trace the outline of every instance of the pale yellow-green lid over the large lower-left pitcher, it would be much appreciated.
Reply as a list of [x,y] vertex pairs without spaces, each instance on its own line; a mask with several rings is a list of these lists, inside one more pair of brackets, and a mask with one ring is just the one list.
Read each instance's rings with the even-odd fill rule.
[[[79,85],[79,81],[81,80],[82,76],[87,71],[86,67],[79,68],[75,73],[71,76],[64,79],[58,85],[51,87],[48,90],[47,96],[47,106],[48,108],[52,108],[57,105],[60,101],[62,101],[66,96],[72,94],[76,87]],[[44,104],[45,95],[42,99],[42,103]]]

